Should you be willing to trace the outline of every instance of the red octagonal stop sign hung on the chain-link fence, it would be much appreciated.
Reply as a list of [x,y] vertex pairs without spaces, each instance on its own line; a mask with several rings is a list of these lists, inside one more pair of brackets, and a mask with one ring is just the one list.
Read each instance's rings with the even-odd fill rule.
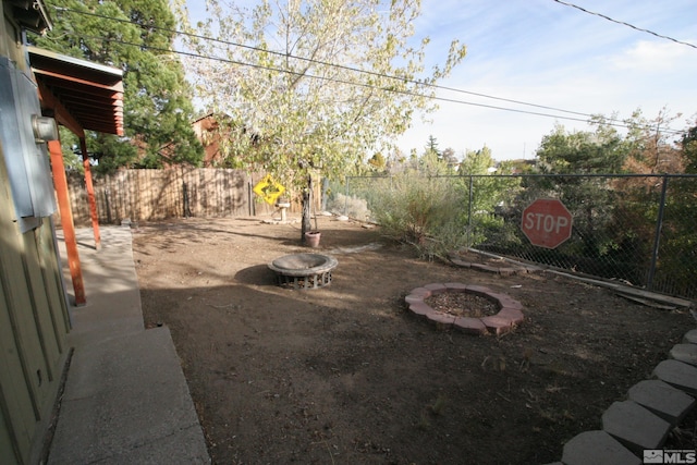
[[538,198],[523,210],[521,229],[534,245],[557,248],[571,237],[572,217],[564,204]]

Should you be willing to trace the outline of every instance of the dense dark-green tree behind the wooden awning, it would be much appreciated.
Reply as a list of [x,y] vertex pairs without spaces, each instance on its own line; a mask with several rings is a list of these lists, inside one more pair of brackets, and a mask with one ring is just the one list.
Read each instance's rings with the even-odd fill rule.
[[[197,164],[191,88],[172,52],[174,15],[166,0],[47,0],[54,27],[37,46],[124,72],[125,137],[89,134],[99,169]],[[161,148],[168,145],[167,155]],[[164,158],[163,158],[164,157]]]

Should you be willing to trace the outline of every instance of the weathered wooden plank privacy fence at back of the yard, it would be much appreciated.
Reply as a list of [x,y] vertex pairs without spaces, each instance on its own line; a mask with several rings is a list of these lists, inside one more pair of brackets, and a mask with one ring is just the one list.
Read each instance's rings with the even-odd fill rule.
[[[271,216],[273,206],[261,201],[252,191],[262,178],[220,168],[120,170],[95,176],[99,222]],[[75,224],[89,224],[89,203],[82,175],[69,176],[69,189]],[[291,210],[299,211],[299,206],[293,203]]]

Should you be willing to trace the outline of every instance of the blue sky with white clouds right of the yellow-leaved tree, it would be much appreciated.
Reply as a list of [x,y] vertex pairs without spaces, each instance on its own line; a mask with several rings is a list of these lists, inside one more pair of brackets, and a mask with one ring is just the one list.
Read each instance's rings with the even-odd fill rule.
[[[697,45],[695,0],[575,0],[589,11],[636,27]],[[201,14],[204,0],[188,0]],[[242,3],[254,3],[244,0]],[[504,99],[586,114],[628,118],[640,109],[647,119],[665,108],[682,113],[672,127],[683,130],[697,114],[697,48],[584,13],[553,0],[423,0],[415,39],[428,36],[427,68],[442,63],[454,38],[467,56],[440,85]],[[429,135],[457,156],[485,145],[497,160],[534,158],[542,137],[557,123],[570,131],[591,131],[585,122],[478,107],[571,115],[505,101],[438,90],[439,102],[417,117],[399,139],[408,152],[423,151]]]

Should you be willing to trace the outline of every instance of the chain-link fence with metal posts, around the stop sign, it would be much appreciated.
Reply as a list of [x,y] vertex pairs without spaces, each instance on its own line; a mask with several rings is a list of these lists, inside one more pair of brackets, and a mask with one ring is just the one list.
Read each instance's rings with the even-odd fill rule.
[[[670,295],[697,297],[697,175],[512,174],[430,176],[451,185],[462,234],[475,249],[574,273],[617,280]],[[346,178],[346,207],[367,210],[395,178]],[[450,195],[450,194],[449,194]],[[533,245],[522,216],[535,199],[563,203],[571,237],[555,248]],[[346,208],[344,215],[356,216]],[[369,211],[365,213],[369,217]],[[362,218],[363,219],[363,218]]]

